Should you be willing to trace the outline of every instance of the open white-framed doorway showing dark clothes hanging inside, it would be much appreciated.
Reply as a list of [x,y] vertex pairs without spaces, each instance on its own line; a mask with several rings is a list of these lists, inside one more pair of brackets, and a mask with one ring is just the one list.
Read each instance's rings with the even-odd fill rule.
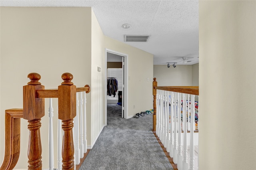
[[[118,107],[120,117],[127,119],[127,57],[128,55],[106,49],[106,124],[111,108]],[[119,113],[120,112],[120,113]]]

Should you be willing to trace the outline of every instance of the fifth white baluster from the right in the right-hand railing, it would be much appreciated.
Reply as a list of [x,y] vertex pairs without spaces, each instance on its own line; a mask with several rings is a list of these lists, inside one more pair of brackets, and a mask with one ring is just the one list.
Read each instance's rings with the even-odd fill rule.
[[171,115],[170,115],[170,157],[174,155],[174,92],[171,92]]

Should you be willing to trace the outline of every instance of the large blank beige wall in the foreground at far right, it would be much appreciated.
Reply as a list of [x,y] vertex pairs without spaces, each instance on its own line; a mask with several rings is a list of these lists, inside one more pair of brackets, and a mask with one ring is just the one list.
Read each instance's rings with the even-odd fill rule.
[[199,168],[256,169],[256,1],[199,1]]

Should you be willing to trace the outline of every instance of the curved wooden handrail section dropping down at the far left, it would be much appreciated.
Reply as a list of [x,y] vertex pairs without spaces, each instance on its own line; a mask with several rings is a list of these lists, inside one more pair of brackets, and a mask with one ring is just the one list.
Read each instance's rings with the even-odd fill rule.
[[20,156],[20,118],[23,118],[23,109],[5,111],[4,160],[0,170],[11,170],[18,162]]

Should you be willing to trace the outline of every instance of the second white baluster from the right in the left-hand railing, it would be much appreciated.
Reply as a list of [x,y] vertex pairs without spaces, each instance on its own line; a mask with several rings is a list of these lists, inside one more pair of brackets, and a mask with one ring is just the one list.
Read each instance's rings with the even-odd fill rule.
[[84,118],[83,118],[83,93],[80,92],[80,158],[84,157]]

